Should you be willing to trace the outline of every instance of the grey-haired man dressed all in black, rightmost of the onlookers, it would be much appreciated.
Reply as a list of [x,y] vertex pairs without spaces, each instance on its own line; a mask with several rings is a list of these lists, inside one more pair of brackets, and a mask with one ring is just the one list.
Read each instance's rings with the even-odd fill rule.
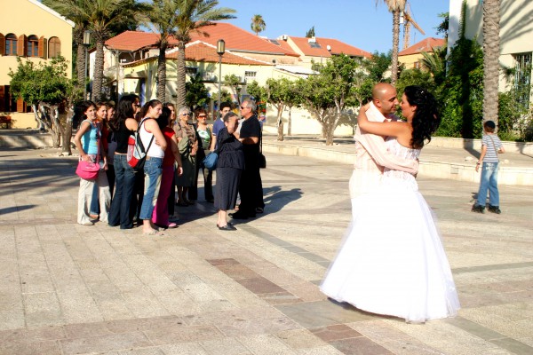
[[239,210],[230,217],[234,219],[247,219],[255,217],[256,209],[263,205],[263,187],[259,173],[259,145],[261,139],[261,125],[255,115],[256,104],[251,99],[246,99],[241,105],[243,123],[239,133],[239,140],[243,143],[244,170],[239,185],[241,204]]

